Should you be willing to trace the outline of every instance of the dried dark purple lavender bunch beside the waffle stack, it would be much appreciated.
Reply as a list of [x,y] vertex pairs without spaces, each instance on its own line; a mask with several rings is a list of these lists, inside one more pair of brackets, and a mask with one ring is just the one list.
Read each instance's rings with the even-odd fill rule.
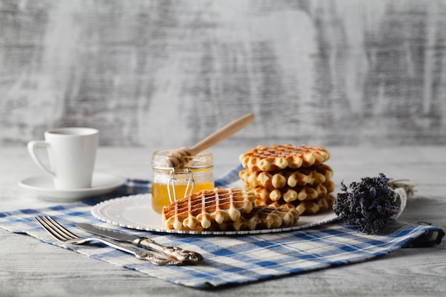
[[346,224],[358,226],[358,231],[375,234],[390,222],[390,217],[398,213],[395,192],[388,187],[389,179],[383,173],[379,177],[364,177],[361,182],[352,182],[348,191],[343,182],[333,211]]

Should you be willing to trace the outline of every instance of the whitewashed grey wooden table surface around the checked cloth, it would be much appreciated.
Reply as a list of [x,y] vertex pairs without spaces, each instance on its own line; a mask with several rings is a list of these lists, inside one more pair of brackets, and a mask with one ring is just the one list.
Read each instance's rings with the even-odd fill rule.
[[[337,184],[385,173],[410,179],[417,192],[400,220],[446,229],[446,147],[327,147]],[[239,164],[247,147],[215,147],[218,177]],[[98,151],[96,170],[150,178],[149,148]],[[47,207],[17,185],[41,174],[24,147],[0,148],[0,211]],[[0,296],[446,296],[446,241],[430,248],[400,249],[388,256],[244,286],[201,291],[90,259],[31,236],[0,229]]]

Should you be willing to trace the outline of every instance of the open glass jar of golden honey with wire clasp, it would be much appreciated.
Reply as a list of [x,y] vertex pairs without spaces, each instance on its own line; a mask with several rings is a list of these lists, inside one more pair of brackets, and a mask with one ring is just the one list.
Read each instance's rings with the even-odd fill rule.
[[182,156],[185,166],[169,167],[166,162],[172,150],[158,150],[152,155],[152,209],[161,214],[162,207],[202,189],[214,189],[214,158],[204,151],[195,156]]

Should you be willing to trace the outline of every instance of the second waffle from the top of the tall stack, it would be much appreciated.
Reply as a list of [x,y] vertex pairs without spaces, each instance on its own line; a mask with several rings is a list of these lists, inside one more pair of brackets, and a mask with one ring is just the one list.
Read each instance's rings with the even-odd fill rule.
[[276,189],[285,186],[296,187],[306,184],[321,184],[331,179],[333,170],[328,165],[311,166],[297,170],[280,170],[276,172],[264,172],[244,169],[239,172],[239,177],[246,184],[253,187],[274,187]]

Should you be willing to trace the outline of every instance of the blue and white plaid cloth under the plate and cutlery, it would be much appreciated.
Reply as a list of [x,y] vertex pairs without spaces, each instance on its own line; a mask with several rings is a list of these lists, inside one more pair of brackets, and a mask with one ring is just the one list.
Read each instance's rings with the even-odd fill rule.
[[[216,186],[230,187],[237,183],[239,168],[216,181]],[[199,236],[190,234],[160,234],[113,226],[100,222],[91,214],[92,207],[104,199],[128,194],[150,192],[147,180],[128,180],[125,186],[107,197],[83,202],[61,204],[44,209],[20,209],[0,212],[0,227],[23,233],[41,241],[71,249],[93,259],[127,269],[134,269],[170,283],[194,288],[240,285],[294,273],[305,273],[385,256],[405,246],[439,244],[444,232],[435,226],[393,222],[379,234],[359,233],[343,222],[269,234],[235,236]],[[123,251],[102,244],[72,246],[53,239],[33,217],[50,215],[74,233],[87,233],[74,226],[85,222],[98,226],[147,236],[162,244],[181,246],[198,251],[204,263],[196,266],[156,266]]]

